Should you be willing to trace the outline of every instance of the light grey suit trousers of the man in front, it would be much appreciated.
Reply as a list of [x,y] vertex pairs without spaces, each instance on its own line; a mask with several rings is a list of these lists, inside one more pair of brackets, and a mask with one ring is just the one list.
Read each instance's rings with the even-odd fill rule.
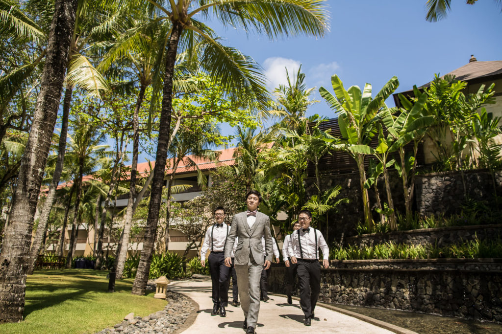
[[[249,261],[244,265],[235,265],[237,285],[239,287],[240,307],[247,319],[247,326],[256,328],[260,311],[260,277],[263,265]],[[247,287],[247,288],[246,288]]]

